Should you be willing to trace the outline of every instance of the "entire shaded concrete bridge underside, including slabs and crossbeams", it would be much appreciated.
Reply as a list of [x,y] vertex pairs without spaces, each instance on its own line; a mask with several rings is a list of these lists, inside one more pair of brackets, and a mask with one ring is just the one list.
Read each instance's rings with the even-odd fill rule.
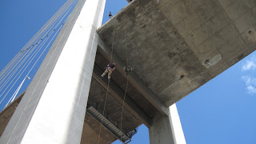
[[[126,50],[134,71],[128,77],[122,131],[146,124],[256,48],[256,2],[253,0],[134,0],[98,29],[101,37],[90,84],[88,106],[102,113],[106,78],[98,78],[113,62],[105,117],[120,127],[126,90]],[[0,115],[1,130],[16,99]],[[4,122],[5,121],[5,122]],[[100,124],[86,114],[82,143],[98,141]],[[1,131],[2,134],[2,131]],[[116,138],[103,128],[101,143]]]

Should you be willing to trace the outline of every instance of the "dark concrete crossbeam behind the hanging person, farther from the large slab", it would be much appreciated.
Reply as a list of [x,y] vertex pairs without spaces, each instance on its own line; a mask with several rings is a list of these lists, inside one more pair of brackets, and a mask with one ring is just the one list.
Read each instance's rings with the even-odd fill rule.
[[[93,78],[107,89],[108,81],[105,78],[99,78],[99,75],[102,74],[102,72],[103,71],[95,64]],[[124,91],[120,89],[117,84],[110,82],[108,90],[110,94],[112,94],[114,98],[118,100],[118,102],[122,103]],[[130,111],[131,114],[134,115],[135,118],[140,119],[146,126],[152,126],[152,119],[127,94],[124,106]]]

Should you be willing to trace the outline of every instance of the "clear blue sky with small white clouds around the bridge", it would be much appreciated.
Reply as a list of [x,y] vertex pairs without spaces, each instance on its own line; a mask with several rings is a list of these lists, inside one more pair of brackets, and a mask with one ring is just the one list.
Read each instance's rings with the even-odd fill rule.
[[[63,3],[0,1],[1,70]],[[126,0],[106,0],[103,23],[109,19],[110,11],[114,15],[126,4]],[[256,143],[255,72],[254,52],[176,103],[188,144]],[[130,143],[150,143],[146,126],[139,127]]]

